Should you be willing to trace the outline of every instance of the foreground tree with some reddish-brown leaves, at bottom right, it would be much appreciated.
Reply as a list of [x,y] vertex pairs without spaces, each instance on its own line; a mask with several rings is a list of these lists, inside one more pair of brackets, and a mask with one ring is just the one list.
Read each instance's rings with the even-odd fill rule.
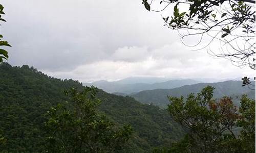
[[197,96],[189,94],[186,101],[183,96],[168,97],[170,116],[187,134],[158,152],[255,152],[255,101],[243,95],[238,112],[229,97],[212,99],[213,91],[207,86]]

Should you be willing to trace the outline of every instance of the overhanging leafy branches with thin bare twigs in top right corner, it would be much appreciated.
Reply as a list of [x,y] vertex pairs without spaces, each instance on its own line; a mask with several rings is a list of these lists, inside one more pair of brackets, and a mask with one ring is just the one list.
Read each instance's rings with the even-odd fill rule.
[[[173,15],[164,16],[164,25],[177,30],[183,40],[198,38],[191,47],[224,57],[234,65],[255,69],[255,10],[253,0],[143,0],[148,11],[161,12],[174,5]],[[160,6],[159,6],[160,4]],[[159,10],[152,9],[161,8]],[[182,11],[180,11],[182,10]],[[210,44],[219,49],[212,50]]]

